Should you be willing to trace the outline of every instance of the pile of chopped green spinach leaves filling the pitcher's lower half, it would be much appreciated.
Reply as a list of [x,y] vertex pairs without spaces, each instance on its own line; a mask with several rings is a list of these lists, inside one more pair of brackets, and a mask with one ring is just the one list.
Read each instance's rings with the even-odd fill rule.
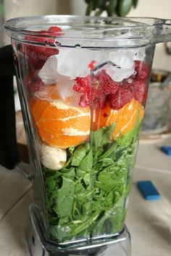
[[43,168],[51,239],[122,230],[140,125],[109,142],[114,127],[92,131],[90,142],[70,147],[62,170]]

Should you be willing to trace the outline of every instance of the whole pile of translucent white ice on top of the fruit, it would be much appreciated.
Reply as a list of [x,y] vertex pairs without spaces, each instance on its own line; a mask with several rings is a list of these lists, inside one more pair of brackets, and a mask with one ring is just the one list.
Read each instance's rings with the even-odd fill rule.
[[61,48],[59,54],[47,59],[38,75],[45,84],[58,83],[62,99],[65,99],[75,94],[72,89],[75,78],[90,75],[91,70],[88,65],[92,61],[95,67],[100,65],[99,70],[106,70],[114,81],[120,82],[135,73],[133,59],[135,59],[135,51]]

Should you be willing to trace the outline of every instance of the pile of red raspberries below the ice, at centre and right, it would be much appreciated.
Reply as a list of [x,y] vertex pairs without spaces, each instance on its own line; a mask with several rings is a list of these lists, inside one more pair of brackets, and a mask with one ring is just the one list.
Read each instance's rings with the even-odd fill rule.
[[81,94],[79,105],[103,109],[109,104],[113,110],[120,110],[133,98],[141,104],[146,103],[147,84],[150,68],[145,62],[135,60],[135,75],[115,82],[101,70],[96,75],[85,78],[75,78],[73,89]]

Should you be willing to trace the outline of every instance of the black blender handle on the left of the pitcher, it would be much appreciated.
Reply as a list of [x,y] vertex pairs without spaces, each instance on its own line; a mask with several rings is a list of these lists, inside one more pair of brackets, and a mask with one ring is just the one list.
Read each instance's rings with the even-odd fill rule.
[[0,49],[0,164],[12,170],[16,168],[29,179],[30,166],[20,162],[17,147],[15,108],[14,108],[14,62],[12,46],[4,46]]

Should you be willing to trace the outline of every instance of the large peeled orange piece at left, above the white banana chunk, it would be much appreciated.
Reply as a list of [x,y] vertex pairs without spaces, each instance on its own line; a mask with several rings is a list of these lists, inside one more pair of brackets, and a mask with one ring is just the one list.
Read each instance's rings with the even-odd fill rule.
[[83,143],[89,136],[91,118],[88,108],[39,98],[30,99],[30,108],[38,133],[47,144],[67,148]]

